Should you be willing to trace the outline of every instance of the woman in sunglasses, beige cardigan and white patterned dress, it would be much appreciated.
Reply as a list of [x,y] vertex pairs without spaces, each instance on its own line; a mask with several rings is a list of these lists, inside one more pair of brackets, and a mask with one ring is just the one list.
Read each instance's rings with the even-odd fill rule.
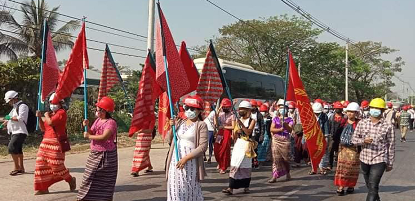
[[171,144],[167,158],[167,201],[204,201],[200,181],[204,179],[203,153],[207,150],[207,125],[201,119],[203,100],[199,96],[184,99],[185,119],[170,121],[176,125],[177,147],[180,160],[176,158],[172,131],[167,134]]

